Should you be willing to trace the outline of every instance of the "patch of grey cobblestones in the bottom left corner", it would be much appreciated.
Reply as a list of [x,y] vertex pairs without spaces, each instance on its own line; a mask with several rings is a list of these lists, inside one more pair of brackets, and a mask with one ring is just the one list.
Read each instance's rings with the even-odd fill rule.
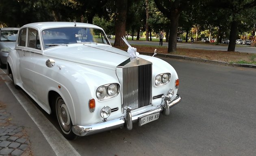
[[11,114],[0,103],[0,156],[33,156],[23,127],[11,124]]

